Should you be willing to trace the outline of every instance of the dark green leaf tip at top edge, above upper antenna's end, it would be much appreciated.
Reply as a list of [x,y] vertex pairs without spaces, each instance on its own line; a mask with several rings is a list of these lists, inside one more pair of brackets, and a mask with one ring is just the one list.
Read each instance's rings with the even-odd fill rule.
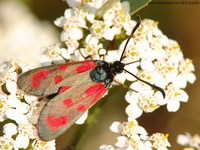
[[137,11],[148,5],[148,3],[151,0],[122,0],[122,1],[128,1],[130,3],[130,12],[131,12],[130,14],[133,15]]

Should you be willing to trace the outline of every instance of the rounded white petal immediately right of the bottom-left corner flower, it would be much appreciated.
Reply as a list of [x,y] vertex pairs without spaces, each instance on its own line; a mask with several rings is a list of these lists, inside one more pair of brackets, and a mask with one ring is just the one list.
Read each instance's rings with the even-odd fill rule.
[[15,145],[18,148],[26,149],[29,145],[29,138],[27,136],[23,136],[23,135],[19,134],[15,139]]

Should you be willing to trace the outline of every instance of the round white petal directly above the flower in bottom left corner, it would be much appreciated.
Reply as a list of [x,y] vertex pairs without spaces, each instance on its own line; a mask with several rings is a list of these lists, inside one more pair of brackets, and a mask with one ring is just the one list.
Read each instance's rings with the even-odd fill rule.
[[11,137],[17,133],[17,126],[14,123],[7,123],[3,126],[3,133]]

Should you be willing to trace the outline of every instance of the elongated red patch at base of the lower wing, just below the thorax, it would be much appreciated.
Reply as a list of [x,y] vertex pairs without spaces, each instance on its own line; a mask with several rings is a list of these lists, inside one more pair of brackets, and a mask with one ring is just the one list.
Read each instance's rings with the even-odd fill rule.
[[103,83],[100,83],[100,84],[96,84],[96,85],[89,87],[88,89],[85,90],[85,93],[87,94],[87,97],[90,97],[94,94],[97,94],[102,89],[105,89],[105,87],[104,87]]

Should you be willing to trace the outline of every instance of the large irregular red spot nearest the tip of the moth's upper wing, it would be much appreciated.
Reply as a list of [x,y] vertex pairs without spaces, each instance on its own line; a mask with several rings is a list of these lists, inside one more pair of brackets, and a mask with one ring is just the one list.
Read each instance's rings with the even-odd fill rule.
[[33,89],[40,85],[40,81],[49,74],[49,71],[41,70],[30,77],[31,87]]

